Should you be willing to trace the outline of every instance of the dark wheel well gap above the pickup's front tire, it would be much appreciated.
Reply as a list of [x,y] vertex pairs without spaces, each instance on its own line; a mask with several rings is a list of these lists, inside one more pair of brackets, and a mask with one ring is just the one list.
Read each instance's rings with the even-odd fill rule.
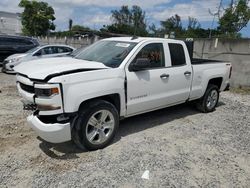
[[111,94],[111,95],[104,95],[104,96],[100,96],[100,97],[96,97],[96,98],[91,98],[91,99],[88,99],[86,101],[83,101],[80,104],[79,109],[81,108],[81,106],[83,106],[86,103],[88,103],[90,101],[93,101],[93,100],[104,100],[104,101],[110,102],[111,104],[113,104],[115,106],[115,108],[118,111],[118,114],[120,114],[121,102],[120,102],[120,95],[118,93]]

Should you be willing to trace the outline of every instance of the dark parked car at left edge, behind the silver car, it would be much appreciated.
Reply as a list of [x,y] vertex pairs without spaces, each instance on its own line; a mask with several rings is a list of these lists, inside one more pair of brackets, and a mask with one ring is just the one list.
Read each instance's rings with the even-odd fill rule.
[[0,35],[0,65],[8,56],[27,52],[36,46],[39,46],[39,43],[35,38]]

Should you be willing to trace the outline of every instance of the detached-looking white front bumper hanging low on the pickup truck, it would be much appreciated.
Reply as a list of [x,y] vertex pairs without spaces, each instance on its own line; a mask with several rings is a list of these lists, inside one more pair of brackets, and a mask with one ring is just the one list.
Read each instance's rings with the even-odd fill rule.
[[43,123],[35,115],[27,117],[30,127],[45,141],[61,143],[71,140],[70,123]]

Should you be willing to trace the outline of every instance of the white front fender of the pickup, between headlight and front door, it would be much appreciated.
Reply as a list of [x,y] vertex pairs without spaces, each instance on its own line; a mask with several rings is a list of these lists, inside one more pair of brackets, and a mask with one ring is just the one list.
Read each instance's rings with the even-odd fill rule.
[[124,76],[121,71],[103,70],[65,75],[61,78],[65,113],[77,112],[81,103],[111,94],[120,96],[120,115],[125,115]]

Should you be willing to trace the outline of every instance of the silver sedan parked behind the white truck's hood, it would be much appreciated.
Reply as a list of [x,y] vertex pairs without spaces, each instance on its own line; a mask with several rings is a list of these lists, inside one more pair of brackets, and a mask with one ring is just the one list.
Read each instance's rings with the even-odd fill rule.
[[6,58],[3,62],[2,72],[15,73],[13,68],[26,61],[36,60],[40,58],[63,56],[74,51],[75,48],[67,45],[41,45],[37,46],[26,53],[13,54]]

